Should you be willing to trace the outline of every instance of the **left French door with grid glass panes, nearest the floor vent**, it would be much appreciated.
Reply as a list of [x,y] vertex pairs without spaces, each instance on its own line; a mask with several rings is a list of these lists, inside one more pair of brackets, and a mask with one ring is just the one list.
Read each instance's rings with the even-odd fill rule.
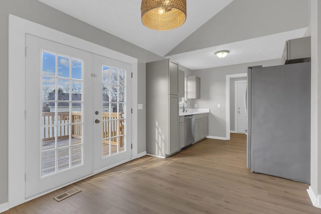
[[26,47],[28,198],[92,172],[93,61],[91,53],[30,35]]

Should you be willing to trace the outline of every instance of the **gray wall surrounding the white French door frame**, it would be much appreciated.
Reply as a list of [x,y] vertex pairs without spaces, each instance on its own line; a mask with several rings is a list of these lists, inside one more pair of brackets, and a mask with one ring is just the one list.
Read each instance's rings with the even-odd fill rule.
[[[138,103],[145,101],[145,63],[163,59],[36,0],[0,1],[0,204],[8,201],[8,29],[9,14],[138,59]],[[145,106],[144,106],[145,107]],[[145,109],[138,111],[138,153],[145,150]],[[21,163],[24,164],[24,163]]]

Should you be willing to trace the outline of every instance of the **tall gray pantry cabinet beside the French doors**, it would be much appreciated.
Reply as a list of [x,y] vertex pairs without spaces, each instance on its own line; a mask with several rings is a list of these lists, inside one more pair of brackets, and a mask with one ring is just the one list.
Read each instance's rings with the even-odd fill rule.
[[180,150],[179,65],[146,63],[146,151],[167,157]]

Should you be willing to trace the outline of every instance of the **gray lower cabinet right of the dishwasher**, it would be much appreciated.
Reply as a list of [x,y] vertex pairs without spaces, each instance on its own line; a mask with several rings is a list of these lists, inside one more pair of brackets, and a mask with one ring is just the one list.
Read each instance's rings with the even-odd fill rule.
[[209,134],[208,114],[195,115],[195,143],[203,140]]

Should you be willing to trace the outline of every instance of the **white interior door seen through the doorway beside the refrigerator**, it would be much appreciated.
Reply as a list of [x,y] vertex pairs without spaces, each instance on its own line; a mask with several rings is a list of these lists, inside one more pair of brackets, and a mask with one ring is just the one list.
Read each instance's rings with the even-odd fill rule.
[[247,129],[244,96],[246,93],[246,80],[235,81],[235,132],[244,133]]

